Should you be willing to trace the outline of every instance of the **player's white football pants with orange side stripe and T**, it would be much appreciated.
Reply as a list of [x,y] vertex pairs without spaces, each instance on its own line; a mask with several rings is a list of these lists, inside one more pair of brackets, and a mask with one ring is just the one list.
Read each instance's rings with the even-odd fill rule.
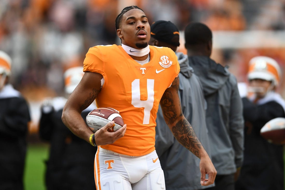
[[156,151],[127,156],[98,148],[94,161],[97,190],[165,189],[164,174]]

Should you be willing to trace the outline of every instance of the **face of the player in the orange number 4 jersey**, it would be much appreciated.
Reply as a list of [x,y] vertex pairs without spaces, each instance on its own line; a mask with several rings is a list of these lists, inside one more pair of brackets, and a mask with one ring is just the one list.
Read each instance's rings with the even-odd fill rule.
[[150,25],[144,12],[140,9],[127,11],[123,15],[117,35],[124,45],[136,49],[145,48],[150,39]]

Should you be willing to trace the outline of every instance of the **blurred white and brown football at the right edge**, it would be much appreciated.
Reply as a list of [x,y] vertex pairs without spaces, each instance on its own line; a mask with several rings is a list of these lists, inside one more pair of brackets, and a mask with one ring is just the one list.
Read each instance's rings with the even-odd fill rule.
[[275,118],[267,122],[260,135],[273,144],[285,144],[285,118]]

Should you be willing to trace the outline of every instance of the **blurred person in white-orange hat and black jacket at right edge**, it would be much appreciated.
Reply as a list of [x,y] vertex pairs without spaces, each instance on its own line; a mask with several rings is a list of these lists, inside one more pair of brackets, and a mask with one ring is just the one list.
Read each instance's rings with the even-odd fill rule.
[[[260,129],[270,120],[285,117],[285,101],[276,92],[281,69],[276,60],[256,56],[249,62],[247,96],[242,98],[245,151],[236,190],[283,190],[284,146],[269,143]],[[255,183],[255,181],[258,181]]]

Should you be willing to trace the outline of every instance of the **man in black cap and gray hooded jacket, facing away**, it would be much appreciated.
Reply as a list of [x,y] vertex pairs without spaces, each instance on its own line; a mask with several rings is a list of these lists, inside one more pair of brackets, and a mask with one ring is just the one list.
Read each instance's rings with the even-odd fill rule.
[[[149,45],[169,47],[174,52],[180,45],[178,28],[170,21],[156,21],[150,26]],[[194,132],[209,154],[208,130],[205,120],[205,99],[203,89],[188,57],[176,52],[180,65],[179,97],[185,118],[192,124]],[[172,135],[164,121],[161,108],[156,118],[155,148],[164,171],[167,190],[204,189],[200,184],[199,158],[184,148]],[[214,184],[207,187],[213,187]]]

